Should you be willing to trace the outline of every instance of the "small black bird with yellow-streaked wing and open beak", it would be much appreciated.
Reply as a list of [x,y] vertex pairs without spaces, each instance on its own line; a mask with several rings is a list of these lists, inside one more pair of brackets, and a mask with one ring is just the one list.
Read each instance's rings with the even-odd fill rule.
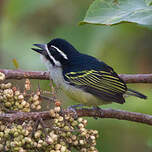
[[69,42],[56,38],[47,44],[34,44],[50,72],[50,79],[67,96],[86,106],[112,102],[123,104],[125,95],[147,97],[128,89],[118,74],[102,61],[78,52]]

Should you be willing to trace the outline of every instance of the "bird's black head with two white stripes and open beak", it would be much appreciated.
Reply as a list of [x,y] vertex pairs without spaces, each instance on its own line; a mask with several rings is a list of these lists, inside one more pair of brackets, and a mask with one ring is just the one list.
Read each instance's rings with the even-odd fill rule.
[[52,66],[66,66],[80,53],[67,41],[53,39],[47,44],[34,44],[32,50],[40,53]]

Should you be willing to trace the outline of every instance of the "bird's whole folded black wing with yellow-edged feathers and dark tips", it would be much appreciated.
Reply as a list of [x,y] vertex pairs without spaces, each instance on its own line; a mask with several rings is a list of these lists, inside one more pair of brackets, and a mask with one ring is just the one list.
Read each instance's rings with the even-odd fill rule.
[[108,72],[86,70],[69,72],[64,76],[71,85],[81,88],[104,101],[124,103],[123,94],[127,90],[126,84],[111,67],[108,68]]

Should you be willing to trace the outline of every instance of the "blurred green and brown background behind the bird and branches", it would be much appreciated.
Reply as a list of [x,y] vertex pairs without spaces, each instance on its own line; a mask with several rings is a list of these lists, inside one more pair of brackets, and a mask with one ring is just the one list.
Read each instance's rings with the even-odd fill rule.
[[[47,43],[60,37],[81,52],[105,61],[118,73],[151,73],[152,31],[136,24],[79,26],[90,3],[90,0],[1,0],[0,68],[15,69],[12,63],[15,58],[20,69],[46,70],[39,55],[30,48],[33,43]],[[17,82],[19,86],[21,83]],[[37,82],[33,81],[33,85]],[[42,81],[41,86],[49,90],[48,81]],[[148,95],[148,100],[129,97],[124,105],[113,103],[103,107],[152,114],[151,85],[129,87]],[[152,151],[152,127],[148,125],[91,118],[88,127],[100,131],[97,144],[100,152]]]

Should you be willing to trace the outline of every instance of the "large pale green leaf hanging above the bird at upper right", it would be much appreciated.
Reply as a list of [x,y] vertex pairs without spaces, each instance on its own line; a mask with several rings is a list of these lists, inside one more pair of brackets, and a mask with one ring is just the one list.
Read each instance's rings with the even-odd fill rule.
[[80,24],[113,25],[124,22],[152,26],[152,6],[147,6],[144,0],[95,0]]

